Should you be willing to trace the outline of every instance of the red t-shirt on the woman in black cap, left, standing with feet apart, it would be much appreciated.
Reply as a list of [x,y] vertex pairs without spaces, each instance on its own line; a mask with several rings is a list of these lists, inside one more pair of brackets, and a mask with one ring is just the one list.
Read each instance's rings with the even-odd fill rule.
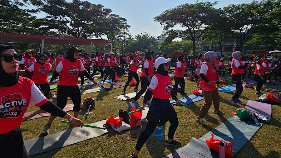
[[75,86],[78,81],[78,74],[81,71],[85,71],[85,68],[81,60],[76,59],[75,62],[71,62],[68,59],[62,60],[57,65],[57,73],[60,74],[60,79],[57,85]]

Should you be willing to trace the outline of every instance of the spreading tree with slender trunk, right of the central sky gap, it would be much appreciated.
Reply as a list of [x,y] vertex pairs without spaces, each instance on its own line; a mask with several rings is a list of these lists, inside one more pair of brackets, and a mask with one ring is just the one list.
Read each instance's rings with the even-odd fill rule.
[[[196,2],[195,4],[183,4],[173,9],[166,10],[154,18],[164,26],[164,32],[168,36],[185,37],[193,42],[193,56],[196,54],[196,41],[208,30],[215,21],[218,10],[214,9],[214,3]],[[180,25],[186,30],[172,30]]]

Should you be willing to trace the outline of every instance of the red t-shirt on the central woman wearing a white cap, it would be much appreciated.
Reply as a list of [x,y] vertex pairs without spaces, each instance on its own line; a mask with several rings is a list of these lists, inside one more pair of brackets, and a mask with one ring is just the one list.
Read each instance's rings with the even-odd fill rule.
[[149,90],[153,93],[153,98],[169,99],[172,93],[172,81],[170,75],[164,76],[155,74],[151,78]]

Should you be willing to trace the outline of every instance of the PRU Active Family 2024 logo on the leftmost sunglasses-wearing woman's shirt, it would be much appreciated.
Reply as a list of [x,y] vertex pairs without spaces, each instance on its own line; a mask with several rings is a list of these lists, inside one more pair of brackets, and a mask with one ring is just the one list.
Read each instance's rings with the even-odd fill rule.
[[0,119],[7,117],[18,117],[26,106],[26,100],[23,99],[21,93],[3,96],[1,101]]

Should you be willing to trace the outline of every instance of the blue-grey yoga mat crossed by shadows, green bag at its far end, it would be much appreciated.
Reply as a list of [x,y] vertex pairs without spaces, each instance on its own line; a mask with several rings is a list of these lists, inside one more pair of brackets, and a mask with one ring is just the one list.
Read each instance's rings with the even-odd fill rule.
[[199,138],[199,140],[209,140],[211,138],[211,134],[214,134],[214,139],[231,141],[233,146],[233,155],[235,155],[252,138],[262,125],[262,123],[260,125],[256,125],[240,121],[238,116],[233,116]]

